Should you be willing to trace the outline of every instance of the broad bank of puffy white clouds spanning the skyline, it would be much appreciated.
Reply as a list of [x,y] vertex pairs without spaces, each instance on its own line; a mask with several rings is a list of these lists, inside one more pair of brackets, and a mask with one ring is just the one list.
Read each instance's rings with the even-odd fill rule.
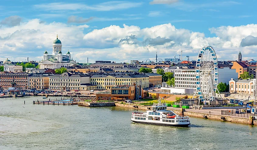
[[[23,61],[41,60],[45,47],[52,51],[52,42],[58,34],[63,51],[72,52],[72,58],[78,62],[110,60],[124,62],[129,59],[153,59],[189,55],[196,59],[203,46],[213,46],[219,60],[236,60],[241,51],[243,59],[255,57],[257,52],[257,24],[246,26],[221,26],[211,28],[214,37],[205,37],[204,33],[187,29],[177,29],[171,23],[140,28],[139,26],[108,26],[84,33],[89,26],[65,23],[42,23],[40,19],[21,22],[17,26],[0,28],[0,52],[2,58]],[[11,53],[10,53],[11,52]],[[8,57],[10,56],[11,57]]]

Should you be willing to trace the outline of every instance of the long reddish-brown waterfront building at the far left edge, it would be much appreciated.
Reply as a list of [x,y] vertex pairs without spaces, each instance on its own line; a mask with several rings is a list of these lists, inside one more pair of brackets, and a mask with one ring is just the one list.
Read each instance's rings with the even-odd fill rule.
[[28,73],[0,72],[0,88],[28,89]]

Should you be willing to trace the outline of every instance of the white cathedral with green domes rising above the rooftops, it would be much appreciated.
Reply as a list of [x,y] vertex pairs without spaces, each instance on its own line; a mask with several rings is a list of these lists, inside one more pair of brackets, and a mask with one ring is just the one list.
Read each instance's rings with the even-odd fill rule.
[[44,52],[43,60],[38,63],[40,69],[54,69],[76,64],[76,62],[71,59],[69,50],[66,55],[62,54],[61,46],[61,40],[58,39],[57,35],[56,40],[53,42],[53,53],[48,54],[47,51]]

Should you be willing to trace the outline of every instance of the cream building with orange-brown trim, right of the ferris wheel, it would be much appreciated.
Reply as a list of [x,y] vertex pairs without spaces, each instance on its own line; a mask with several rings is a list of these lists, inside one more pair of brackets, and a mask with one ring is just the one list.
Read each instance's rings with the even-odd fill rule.
[[253,94],[255,79],[234,79],[229,81],[231,93]]

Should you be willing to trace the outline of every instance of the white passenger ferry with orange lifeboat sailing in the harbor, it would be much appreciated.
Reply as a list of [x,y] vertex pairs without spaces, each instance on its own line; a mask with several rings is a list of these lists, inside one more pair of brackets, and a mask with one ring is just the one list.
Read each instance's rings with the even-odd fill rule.
[[131,121],[141,124],[155,124],[164,126],[187,127],[190,125],[188,116],[179,116],[171,110],[166,110],[167,105],[161,103],[154,103],[152,110],[147,110],[145,113],[134,112],[131,116]]

